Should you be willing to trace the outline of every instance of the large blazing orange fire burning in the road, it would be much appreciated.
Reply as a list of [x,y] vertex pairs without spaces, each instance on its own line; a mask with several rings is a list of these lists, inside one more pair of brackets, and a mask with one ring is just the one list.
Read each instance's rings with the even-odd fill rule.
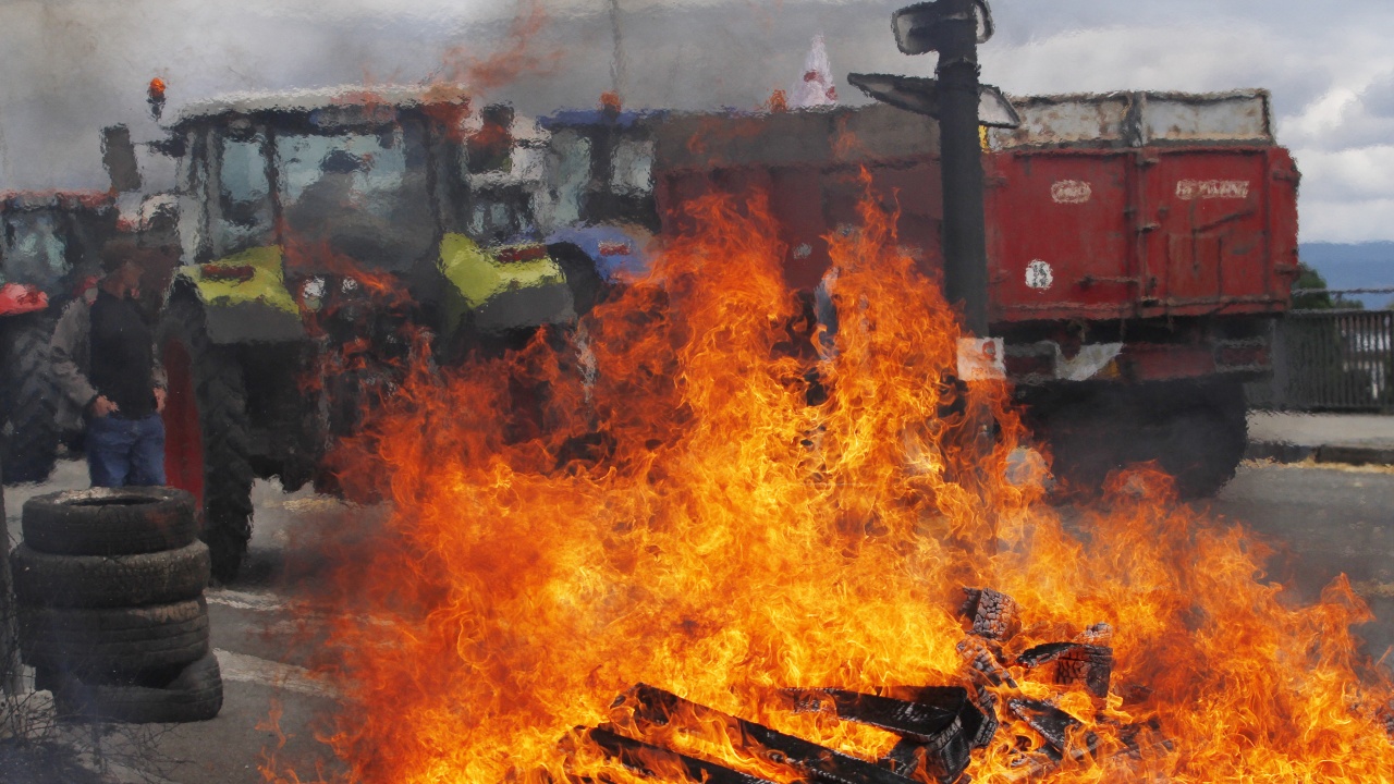
[[[325,597],[340,615],[321,664],[344,695],[325,739],[348,780],[638,778],[584,732],[602,724],[790,780],[711,717],[640,727],[638,684],[875,760],[895,737],[795,713],[778,689],[973,684],[965,586],[1016,600],[1009,663],[1107,635],[1096,624],[1114,657],[1103,699],[1005,667],[973,781],[1394,780],[1394,685],[1356,653],[1369,610],[1349,585],[1294,605],[1262,541],[1146,467],[1066,525],[1041,469],[1013,467],[1026,434],[1005,384],[953,381],[955,314],[894,216],[867,206],[829,239],[835,350],[795,328],[760,199],[694,218],[700,234],[577,329],[411,368],[343,446],[343,484],[393,502]],[[1039,764],[1012,700],[1073,717],[1064,762]]]

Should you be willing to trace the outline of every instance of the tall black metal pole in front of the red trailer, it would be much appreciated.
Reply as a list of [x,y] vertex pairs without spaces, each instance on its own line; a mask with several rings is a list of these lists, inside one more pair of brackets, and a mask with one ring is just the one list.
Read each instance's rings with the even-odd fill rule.
[[940,39],[940,166],[944,183],[944,293],[963,326],[987,336],[987,226],[979,141],[977,21],[973,0],[947,3]]

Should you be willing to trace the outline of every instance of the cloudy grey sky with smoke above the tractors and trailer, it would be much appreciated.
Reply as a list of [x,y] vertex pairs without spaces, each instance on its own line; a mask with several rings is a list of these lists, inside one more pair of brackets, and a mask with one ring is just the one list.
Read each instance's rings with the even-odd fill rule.
[[[754,109],[809,42],[848,71],[928,75],[882,0],[615,0],[630,106]],[[102,187],[99,128],[159,128],[145,85],[183,103],[236,91],[459,78],[527,113],[612,82],[611,0],[0,0],[0,190]],[[1394,240],[1390,0],[995,0],[983,78],[1016,95],[1273,92],[1303,172],[1303,241]]]

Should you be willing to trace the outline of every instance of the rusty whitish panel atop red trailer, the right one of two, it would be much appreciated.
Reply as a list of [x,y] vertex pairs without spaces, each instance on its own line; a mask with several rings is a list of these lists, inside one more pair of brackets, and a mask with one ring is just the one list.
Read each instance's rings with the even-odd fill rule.
[[1273,144],[1267,91],[1146,92],[1138,106],[1143,144]]

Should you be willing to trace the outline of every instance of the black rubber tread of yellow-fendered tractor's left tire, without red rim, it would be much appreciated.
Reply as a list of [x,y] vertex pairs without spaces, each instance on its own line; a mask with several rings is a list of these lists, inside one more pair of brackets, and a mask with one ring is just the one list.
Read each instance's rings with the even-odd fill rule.
[[177,342],[191,359],[204,455],[199,537],[212,554],[213,576],[229,583],[237,578],[252,536],[251,427],[241,364],[231,346],[209,339],[202,308],[190,296],[171,297],[160,319],[159,345],[164,349]]

